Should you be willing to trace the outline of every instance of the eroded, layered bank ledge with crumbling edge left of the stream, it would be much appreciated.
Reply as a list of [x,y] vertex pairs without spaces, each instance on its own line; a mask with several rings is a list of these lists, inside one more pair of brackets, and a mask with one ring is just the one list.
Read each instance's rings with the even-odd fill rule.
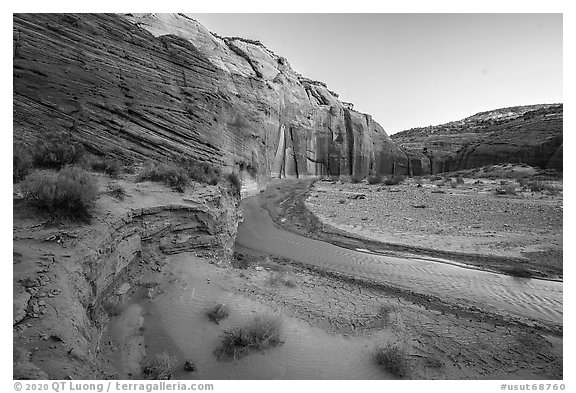
[[236,198],[210,186],[172,199],[155,204],[152,196],[143,207],[114,206],[90,225],[58,228],[34,224],[38,219],[16,206],[14,379],[118,376],[102,337],[113,308],[131,288],[142,288],[142,275],[160,271],[174,253],[205,249],[222,260],[230,256]]

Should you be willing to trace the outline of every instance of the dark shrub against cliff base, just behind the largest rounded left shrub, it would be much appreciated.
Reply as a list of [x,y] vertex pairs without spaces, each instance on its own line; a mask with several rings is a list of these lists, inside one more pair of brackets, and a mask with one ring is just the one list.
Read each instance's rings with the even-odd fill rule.
[[32,150],[32,161],[39,168],[60,169],[78,164],[84,157],[84,147],[63,133],[48,133]]

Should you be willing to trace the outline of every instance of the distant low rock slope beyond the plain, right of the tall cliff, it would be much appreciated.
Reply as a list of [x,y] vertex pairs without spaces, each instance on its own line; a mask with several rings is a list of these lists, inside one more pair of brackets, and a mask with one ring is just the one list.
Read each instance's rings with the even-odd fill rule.
[[530,105],[478,113],[392,136],[419,174],[524,163],[562,172],[563,105]]

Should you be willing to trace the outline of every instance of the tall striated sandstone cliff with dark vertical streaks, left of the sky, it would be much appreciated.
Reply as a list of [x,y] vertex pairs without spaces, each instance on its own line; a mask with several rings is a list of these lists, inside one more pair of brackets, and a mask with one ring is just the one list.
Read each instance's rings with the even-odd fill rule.
[[[14,139],[272,176],[407,173],[382,127],[258,41],[176,14],[16,14]],[[254,172],[254,171],[253,171]]]

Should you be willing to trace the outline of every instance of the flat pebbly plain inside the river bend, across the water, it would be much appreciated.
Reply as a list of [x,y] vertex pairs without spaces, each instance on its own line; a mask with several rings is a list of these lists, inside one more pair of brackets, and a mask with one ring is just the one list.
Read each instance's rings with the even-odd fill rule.
[[[562,278],[561,192],[532,192],[514,179],[435,179],[391,186],[319,181],[306,207],[327,226],[386,245],[463,257],[497,271],[517,267]],[[516,194],[498,194],[503,187]]]

